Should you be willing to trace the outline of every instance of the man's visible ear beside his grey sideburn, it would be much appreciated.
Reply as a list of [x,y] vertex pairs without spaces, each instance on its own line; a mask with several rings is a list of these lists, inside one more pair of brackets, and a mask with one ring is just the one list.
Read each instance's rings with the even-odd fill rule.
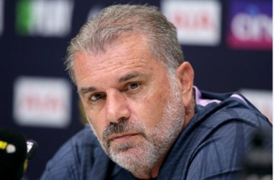
[[191,108],[193,100],[193,80],[194,71],[190,63],[183,62],[176,71],[176,75],[181,84],[181,92],[183,95],[183,105],[186,109]]

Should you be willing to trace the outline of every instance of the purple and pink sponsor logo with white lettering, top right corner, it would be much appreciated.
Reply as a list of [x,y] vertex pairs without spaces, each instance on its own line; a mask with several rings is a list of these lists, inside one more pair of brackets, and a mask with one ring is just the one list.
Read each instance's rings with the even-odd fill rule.
[[272,49],[271,1],[229,1],[228,45],[231,48]]

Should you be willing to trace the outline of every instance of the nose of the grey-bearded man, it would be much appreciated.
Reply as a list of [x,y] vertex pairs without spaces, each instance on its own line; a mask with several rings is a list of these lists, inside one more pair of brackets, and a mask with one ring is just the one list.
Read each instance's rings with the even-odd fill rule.
[[126,97],[118,90],[111,90],[106,96],[106,120],[118,123],[130,117]]

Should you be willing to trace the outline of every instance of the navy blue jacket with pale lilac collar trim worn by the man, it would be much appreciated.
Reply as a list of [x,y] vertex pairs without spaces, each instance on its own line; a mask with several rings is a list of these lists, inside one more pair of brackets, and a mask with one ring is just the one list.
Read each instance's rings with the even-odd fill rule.
[[[170,149],[157,179],[240,179],[256,130],[270,132],[262,147],[272,152],[272,125],[239,94],[196,89],[196,114]],[[46,165],[44,179],[135,179],[103,152],[88,125]]]

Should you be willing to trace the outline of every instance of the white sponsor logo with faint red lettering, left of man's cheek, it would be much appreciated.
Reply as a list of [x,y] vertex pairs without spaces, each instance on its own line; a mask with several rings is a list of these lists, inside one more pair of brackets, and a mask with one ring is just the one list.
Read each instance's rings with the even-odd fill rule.
[[71,85],[61,78],[20,77],[14,83],[13,109],[19,125],[66,127],[71,121]]

